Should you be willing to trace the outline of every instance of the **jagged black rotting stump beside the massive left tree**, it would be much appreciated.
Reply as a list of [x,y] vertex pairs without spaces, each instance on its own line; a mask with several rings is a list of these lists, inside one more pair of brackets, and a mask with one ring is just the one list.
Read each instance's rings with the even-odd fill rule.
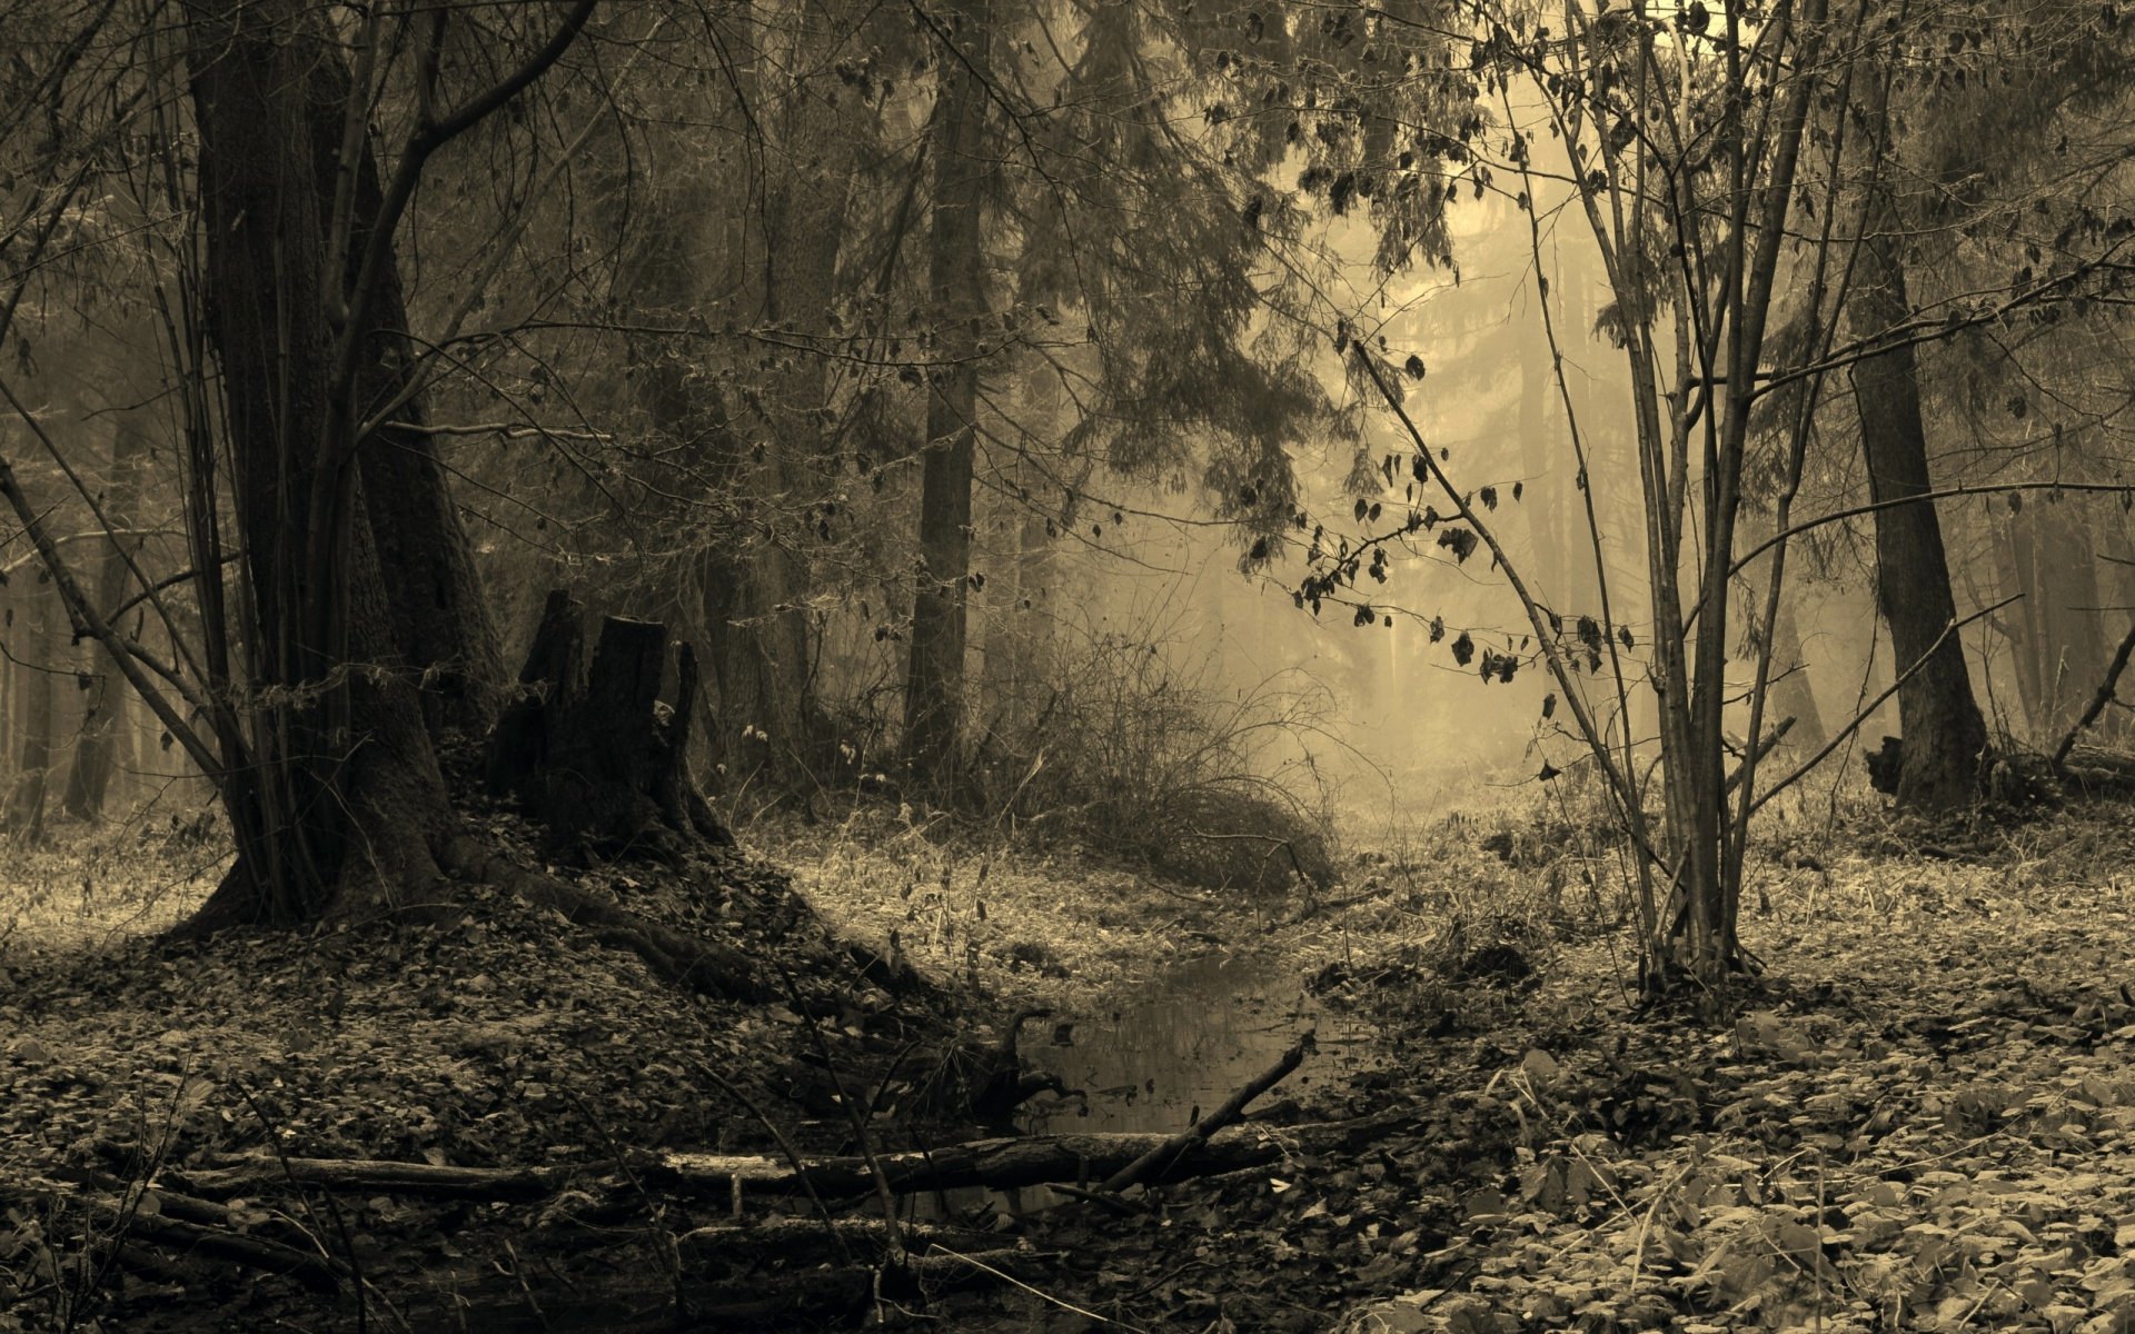
[[551,591],[489,743],[489,790],[555,847],[675,860],[696,839],[732,843],[687,768],[696,653],[658,621],[606,617],[587,666],[585,638],[585,606]]

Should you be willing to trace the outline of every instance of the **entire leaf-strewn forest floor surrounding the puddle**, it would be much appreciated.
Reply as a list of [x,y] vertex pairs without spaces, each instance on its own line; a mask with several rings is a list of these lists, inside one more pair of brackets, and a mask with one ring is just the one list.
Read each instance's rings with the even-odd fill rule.
[[[1362,1146],[1136,1189],[1123,1210],[937,1206],[914,1236],[984,1249],[1010,1276],[963,1274],[974,1287],[935,1266],[933,1291],[892,1308],[927,1296],[922,1325],[1044,1332],[2135,1330],[2122,807],[1772,822],[1744,920],[1770,971],[1717,1027],[1633,1014],[1614,860],[1533,811],[1354,852],[1349,884],[1313,896],[1168,886],[886,811],[745,830],[798,896],[724,852],[572,873],[781,965],[792,988],[771,1005],[683,995],[483,890],[423,922],[164,943],[149,933],[216,873],[196,835],[0,852],[0,1330],[867,1317],[875,1293],[835,1287],[837,1257],[722,1227],[730,1200],[670,1197],[632,1165],[775,1153],[766,1123],[796,1153],[850,1146],[854,1086],[882,1091],[880,1146],[929,1114],[948,1133],[944,1076],[989,1018],[1095,1014],[1215,952],[1309,975],[1381,1033],[1366,1074],[1268,1095],[1298,1101],[1260,1133],[1392,1118]],[[933,986],[875,986],[824,926]],[[275,1155],[636,1189],[470,1202],[269,1178],[218,1197],[218,1229],[354,1259],[359,1281],[314,1296],[181,1227],[188,1182]],[[737,1257],[752,1227],[788,1240]],[[873,1236],[854,1227],[839,1246],[865,1264]],[[668,1302],[811,1285],[839,1293],[831,1308],[754,1325],[734,1313],[769,1306],[677,1325]]]

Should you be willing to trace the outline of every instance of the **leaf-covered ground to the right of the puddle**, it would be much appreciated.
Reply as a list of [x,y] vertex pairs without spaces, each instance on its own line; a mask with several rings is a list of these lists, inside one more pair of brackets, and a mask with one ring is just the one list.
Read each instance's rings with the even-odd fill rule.
[[[1063,1255],[1050,1298],[1089,1315],[1023,1313],[1044,1330],[2135,1330],[2131,843],[2120,811],[1774,843],[1746,924],[1774,971],[1719,1031],[1629,1014],[1610,939],[1537,946],[1544,984],[1518,1003],[1351,965],[1390,1031],[1465,1027],[1462,997],[1488,1022],[1373,1080],[1416,1121],[1347,1161],[1176,1187],[1127,1225],[1042,1223]],[[1499,875],[1439,854],[1441,873]]]

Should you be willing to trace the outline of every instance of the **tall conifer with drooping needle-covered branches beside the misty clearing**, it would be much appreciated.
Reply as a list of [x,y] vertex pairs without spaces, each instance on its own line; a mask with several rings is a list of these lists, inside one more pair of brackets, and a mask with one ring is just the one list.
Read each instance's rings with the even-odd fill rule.
[[[931,307],[946,324],[929,339],[907,657],[907,749],[922,771],[961,745],[963,606],[997,574],[971,568],[974,478],[1001,508],[1091,542],[1108,527],[1076,523],[1093,467],[1174,482],[1260,570],[1298,514],[1292,448],[1322,431],[1358,440],[1358,418],[1309,369],[1311,275],[1326,258],[1307,237],[1311,205],[1369,218],[1388,267],[1445,258],[1433,134],[1454,128],[1445,92],[1458,83],[1439,34],[1390,21],[1364,41],[1366,23],[1243,2],[989,4],[924,19],[937,79]],[[974,152],[950,143],[950,113],[986,130],[963,173],[944,158]],[[1307,169],[1285,196],[1264,177],[1292,154]],[[944,226],[976,231],[948,239]],[[989,290],[989,267],[1014,284]],[[1006,335],[978,337],[978,312]],[[1050,382],[1038,401],[1059,388],[1061,431],[1053,412],[1035,429],[999,412],[986,376],[1003,367]]]

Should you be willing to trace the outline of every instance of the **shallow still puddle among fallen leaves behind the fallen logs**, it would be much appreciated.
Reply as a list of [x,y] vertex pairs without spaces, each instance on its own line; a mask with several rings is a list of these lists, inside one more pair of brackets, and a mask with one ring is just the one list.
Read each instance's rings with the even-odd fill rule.
[[1369,1025],[1319,1005],[1294,965],[1258,954],[1208,954],[1140,988],[1140,997],[1053,1029],[1023,1033],[1023,1061],[1089,1101],[1040,1097],[1016,1118],[1027,1133],[1181,1131],[1275,1065],[1307,1029],[1317,1052],[1247,1110],[1300,1097],[1371,1063]]

